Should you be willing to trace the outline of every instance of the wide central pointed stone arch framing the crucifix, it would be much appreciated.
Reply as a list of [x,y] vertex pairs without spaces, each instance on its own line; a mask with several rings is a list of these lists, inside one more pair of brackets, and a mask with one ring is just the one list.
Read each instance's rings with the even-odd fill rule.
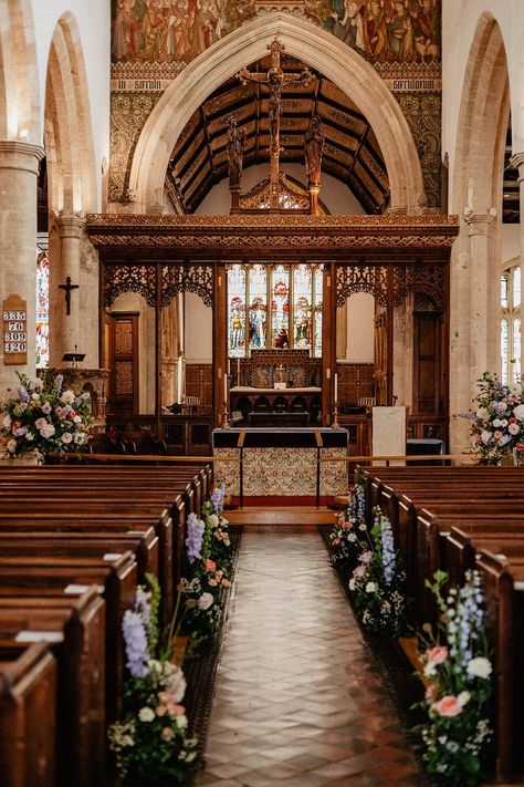
[[331,33],[292,14],[274,12],[243,24],[196,58],[164,93],[144,126],[133,158],[129,191],[135,210],[158,203],[172,147],[192,113],[244,65],[266,54],[279,35],[286,51],[318,69],[366,115],[382,151],[391,208],[420,211],[426,204],[422,170],[398,103],[376,71]]

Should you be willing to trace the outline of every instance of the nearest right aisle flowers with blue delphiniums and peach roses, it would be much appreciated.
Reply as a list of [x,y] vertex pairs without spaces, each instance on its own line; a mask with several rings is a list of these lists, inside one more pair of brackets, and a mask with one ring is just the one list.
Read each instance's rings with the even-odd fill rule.
[[443,588],[448,576],[439,571],[433,583],[441,613],[434,635],[421,634],[421,677],[426,696],[416,707],[426,722],[421,734],[428,773],[442,784],[473,787],[482,780],[486,744],[492,736],[489,702],[492,664],[485,636],[480,577],[469,571],[462,588]]

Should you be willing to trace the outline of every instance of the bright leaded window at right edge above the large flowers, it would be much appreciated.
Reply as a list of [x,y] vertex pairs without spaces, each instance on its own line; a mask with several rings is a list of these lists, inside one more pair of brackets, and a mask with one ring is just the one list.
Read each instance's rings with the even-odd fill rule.
[[520,380],[522,374],[521,341],[521,266],[509,266],[501,278],[501,366],[502,382]]

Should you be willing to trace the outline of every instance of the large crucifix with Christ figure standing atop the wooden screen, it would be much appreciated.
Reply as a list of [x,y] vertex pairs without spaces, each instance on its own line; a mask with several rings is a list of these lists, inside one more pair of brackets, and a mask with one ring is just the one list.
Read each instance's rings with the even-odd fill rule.
[[270,186],[270,208],[279,209],[279,162],[281,154],[280,146],[280,118],[282,115],[282,90],[284,87],[306,86],[313,77],[308,69],[300,73],[286,73],[281,69],[280,56],[285,51],[284,44],[275,37],[268,44],[271,51],[271,69],[266,74],[252,73],[248,69],[242,69],[237,74],[237,79],[244,85],[248,82],[263,84],[270,90],[269,120],[270,120],[270,156],[271,156],[271,186]]

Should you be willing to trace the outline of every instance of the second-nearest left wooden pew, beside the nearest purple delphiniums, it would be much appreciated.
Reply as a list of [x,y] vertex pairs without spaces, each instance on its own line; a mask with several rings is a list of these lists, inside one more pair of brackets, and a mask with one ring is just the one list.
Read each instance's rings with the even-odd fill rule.
[[0,644],[45,642],[46,638],[57,662],[57,784],[103,785],[105,603],[96,589],[77,598],[1,599]]

